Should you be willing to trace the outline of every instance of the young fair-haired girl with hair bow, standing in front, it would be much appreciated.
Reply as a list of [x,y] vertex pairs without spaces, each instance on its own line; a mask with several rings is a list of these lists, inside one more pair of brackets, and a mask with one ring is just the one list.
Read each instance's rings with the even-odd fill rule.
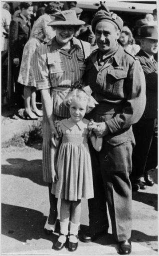
[[[102,146],[102,138],[98,138],[89,132],[87,125],[89,120],[83,118],[85,113],[95,105],[92,104],[92,96],[86,93],[91,90],[89,86],[83,89],[74,89],[65,98],[69,105],[70,118],[58,122],[62,134],[59,145],[55,170],[52,164],[52,179],[56,177],[56,187],[52,185],[52,193],[61,198],[60,205],[60,235],[54,249],[60,250],[66,242],[69,224],[68,250],[77,248],[77,234],[81,213],[81,198],[93,197],[93,182],[90,154],[87,138],[91,140],[93,147],[99,151]],[[95,101],[95,100],[94,100]],[[95,102],[97,103],[97,102]],[[88,135],[89,134],[89,135]],[[59,141],[55,140],[56,147]]]

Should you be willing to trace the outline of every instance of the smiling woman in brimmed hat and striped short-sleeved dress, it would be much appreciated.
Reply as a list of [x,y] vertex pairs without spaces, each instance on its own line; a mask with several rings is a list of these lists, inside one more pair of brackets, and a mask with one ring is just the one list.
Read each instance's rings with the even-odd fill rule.
[[43,179],[48,183],[50,210],[44,230],[49,233],[55,229],[57,218],[57,198],[51,194],[52,181],[50,167],[50,140],[58,136],[54,121],[69,117],[69,109],[63,99],[75,84],[81,82],[85,69],[85,57],[89,55],[90,44],[75,37],[83,21],[77,19],[74,10],[58,11],[48,25],[55,29],[55,37],[47,44],[36,48],[33,68],[36,88],[41,92],[43,109]]

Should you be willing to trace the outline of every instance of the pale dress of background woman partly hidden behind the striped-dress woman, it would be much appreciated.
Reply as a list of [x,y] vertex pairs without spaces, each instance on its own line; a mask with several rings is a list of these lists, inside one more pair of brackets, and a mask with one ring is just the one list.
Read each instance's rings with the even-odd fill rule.
[[36,81],[33,75],[32,55],[36,47],[48,42],[55,35],[55,31],[51,26],[47,26],[48,22],[52,20],[49,14],[45,13],[34,22],[29,40],[26,42],[20,65],[18,82],[25,86],[36,87]]

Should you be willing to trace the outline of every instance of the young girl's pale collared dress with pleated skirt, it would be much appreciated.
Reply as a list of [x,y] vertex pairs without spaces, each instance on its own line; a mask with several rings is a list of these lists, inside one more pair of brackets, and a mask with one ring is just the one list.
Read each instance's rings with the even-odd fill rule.
[[56,187],[52,186],[51,191],[57,198],[74,201],[94,196],[87,144],[88,122],[85,118],[77,123],[72,122],[70,118],[59,121],[62,141],[56,160],[58,181]]

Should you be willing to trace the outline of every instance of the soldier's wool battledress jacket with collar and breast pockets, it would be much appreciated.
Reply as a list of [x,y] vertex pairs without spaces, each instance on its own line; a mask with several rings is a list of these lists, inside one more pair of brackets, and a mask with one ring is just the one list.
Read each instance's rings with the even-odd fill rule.
[[94,111],[105,115],[110,133],[122,132],[143,114],[146,102],[144,73],[139,60],[120,45],[99,69],[98,51],[95,49],[90,54],[84,79],[99,103]]

